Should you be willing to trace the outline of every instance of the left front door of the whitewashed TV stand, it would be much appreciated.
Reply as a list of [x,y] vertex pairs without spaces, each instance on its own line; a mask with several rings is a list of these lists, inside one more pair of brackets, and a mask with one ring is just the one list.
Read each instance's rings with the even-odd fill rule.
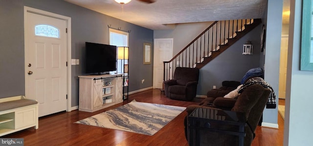
[[95,80],[95,83],[93,83],[93,108],[101,106],[103,104],[103,92],[102,92],[103,83],[101,80]]

